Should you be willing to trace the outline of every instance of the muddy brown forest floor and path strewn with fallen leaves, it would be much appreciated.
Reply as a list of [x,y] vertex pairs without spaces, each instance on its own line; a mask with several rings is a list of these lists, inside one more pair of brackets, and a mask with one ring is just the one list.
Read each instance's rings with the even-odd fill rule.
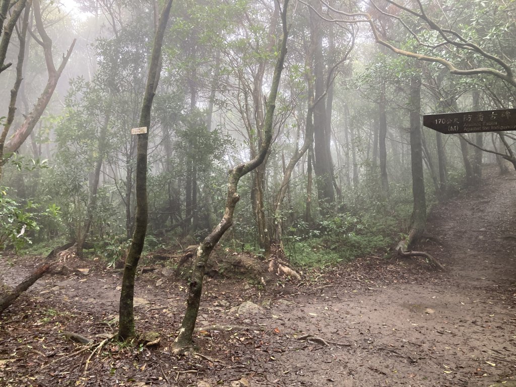
[[[192,358],[170,350],[185,288],[167,270],[140,275],[135,295],[137,329],[158,331],[157,346],[93,353],[63,336],[115,332],[121,282],[98,262],[67,262],[89,271],[45,276],[0,317],[0,385],[514,387],[515,192],[513,175],[493,176],[433,209],[418,249],[445,272],[364,257],[300,284],[208,279]],[[0,281],[35,264],[4,256]],[[244,301],[260,308],[231,311]]]

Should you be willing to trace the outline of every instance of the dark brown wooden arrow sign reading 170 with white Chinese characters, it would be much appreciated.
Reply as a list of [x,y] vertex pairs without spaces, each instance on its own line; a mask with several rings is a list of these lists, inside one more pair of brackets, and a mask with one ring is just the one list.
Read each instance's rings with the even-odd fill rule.
[[444,134],[516,131],[516,109],[427,114],[423,125]]

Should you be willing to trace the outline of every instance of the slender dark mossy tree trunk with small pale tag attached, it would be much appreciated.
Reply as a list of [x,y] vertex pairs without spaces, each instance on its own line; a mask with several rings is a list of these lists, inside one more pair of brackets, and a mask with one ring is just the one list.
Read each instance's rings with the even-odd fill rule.
[[[168,0],[163,8],[163,12],[159,17],[154,44],[152,47],[152,56],[149,65],[149,74],[147,77],[147,87],[143,96],[141,105],[141,114],[139,126],[151,126],[151,107],[152,100],[156,91],[159,79],[159,63],[163,45],[163,37],[165,28],[169,19],[172,0]],[[118,328],[118,337],[120,340],[127,340],[135,336],[134,327],[134,278],[136,276],[136,268],[140,260],[141,251],[143,250],[143,242],[147,233],[148,220],[148,203],[147,203],[147,144],[148,133],[138,135],[138,150],[136,158],[136,225],[131,241],[131,247],[125,259],[124,274],[122,278],[122,291],[120,294],[120,325]]]

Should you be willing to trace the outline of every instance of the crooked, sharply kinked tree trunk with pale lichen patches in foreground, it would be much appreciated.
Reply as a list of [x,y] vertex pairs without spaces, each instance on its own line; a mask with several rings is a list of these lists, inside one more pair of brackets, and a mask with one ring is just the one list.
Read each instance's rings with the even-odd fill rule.
[[267,155],[272,140],[272,124],[274,117],[274,110],[276,107],[276,96],[278,87],[280,84],[281,72],[283,70],[283,64],[286,56],[286,42],[287,42],[287,25],[286,25],[286,13],[287,13],[288,0],[284,0],[283,10],[281,11],[281,21],[283,25],[283,38],[281,41],[281,50],[276,61],[274,69],[274,75],[272,77],[272,83],[270,87],[269,98],[267,100],[267,109],[265,115],[265,121],[263,126],[264,141],[259,153],[247,163],[239,164],[234,169],[229,171],[229,184],[228,184],[228,196],[225,203],[224,216],[220,220],[219,224],[212,230],[212,232],[204,238],[201,244],[197,247],[195,261],[193,263],[193,269],[191,277],[188,283],[188,297],[185,315],[181,324],[178,337],[174,342],[174,352],[180,353],[188,351],[192,346],[192,334],[195,328],[197,315],[199,312],[199,305],[202,294],[202,283],[204,279],[204,270],[209,254],[222,237],[224,233],[233,224],[233,214],[235,206],[240,199],[237,188],[238,182],[242,176],[251,172],[260,164],[263,163],[265,156]]

